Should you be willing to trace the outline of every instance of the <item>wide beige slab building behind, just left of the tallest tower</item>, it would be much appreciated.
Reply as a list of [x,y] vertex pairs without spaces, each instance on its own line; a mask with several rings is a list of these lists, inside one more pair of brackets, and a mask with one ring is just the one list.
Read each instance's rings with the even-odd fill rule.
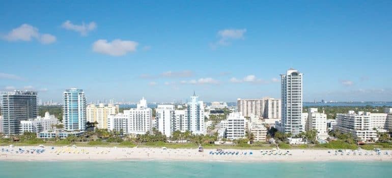
[[281,118],[281,99],[237,99],[237,110],[245,117]]

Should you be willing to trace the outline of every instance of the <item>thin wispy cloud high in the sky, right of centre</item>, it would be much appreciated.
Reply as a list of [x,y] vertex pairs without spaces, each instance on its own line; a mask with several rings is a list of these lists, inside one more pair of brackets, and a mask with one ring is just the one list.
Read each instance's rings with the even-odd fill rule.
[[245,28],[242,29],[222,29],[218,31],[219,40],[213,44],[211,47],[215,49],[218,45],[227,46],[232,43],[234,40],[244,39],[244,34],[246,32]]

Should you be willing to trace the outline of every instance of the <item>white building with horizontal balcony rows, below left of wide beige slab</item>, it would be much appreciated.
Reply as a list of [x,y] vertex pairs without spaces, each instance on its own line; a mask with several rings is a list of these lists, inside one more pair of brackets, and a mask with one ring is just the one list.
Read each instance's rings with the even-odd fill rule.
[[245,124],[246,119],[239,112],[230,113],[227,118],[226,135],[228,139],[246,138]]

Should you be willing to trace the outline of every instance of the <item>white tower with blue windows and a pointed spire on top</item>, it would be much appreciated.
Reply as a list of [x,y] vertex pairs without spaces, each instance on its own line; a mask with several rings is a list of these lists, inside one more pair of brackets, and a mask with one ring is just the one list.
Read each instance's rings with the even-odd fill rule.
[[199,101],[199,96],[196,96],[194,92],[193,96],[190,97],[190,100],[191,101],[186,104],[186,130],[191,131],[193,134],[206,134],[206,128],[204,127],[203,101]]

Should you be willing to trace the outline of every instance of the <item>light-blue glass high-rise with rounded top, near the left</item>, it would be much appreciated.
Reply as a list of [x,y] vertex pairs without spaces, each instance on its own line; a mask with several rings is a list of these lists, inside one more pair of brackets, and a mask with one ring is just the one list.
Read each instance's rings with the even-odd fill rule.
[[83,90],[71,88],[63,93],[63,122],[68,131],[86,130],[86,97]]

